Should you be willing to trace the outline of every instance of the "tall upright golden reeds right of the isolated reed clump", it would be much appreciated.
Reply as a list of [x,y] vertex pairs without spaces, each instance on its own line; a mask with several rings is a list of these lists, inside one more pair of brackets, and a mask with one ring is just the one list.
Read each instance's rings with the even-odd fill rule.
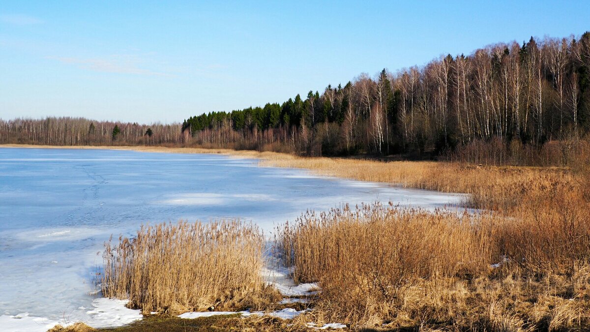
[[337,269],[343,279],[370,271],[371,285],[386,296],[409,279],[474,275],[497,261],[491,224],[489,214],[375,203],[307,211],[279,226],[276,239],[296,282],[317,281],[326,270]]

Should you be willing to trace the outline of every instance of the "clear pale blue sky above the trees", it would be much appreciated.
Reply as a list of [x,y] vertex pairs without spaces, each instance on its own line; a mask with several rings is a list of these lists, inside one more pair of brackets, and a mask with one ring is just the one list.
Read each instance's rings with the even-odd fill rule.
[[589,23],[588,1],[3,1],[0,118],[182,121]]

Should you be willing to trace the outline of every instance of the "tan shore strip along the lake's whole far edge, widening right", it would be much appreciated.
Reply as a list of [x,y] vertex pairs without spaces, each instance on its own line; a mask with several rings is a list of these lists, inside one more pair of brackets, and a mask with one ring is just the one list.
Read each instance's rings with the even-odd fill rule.
[[477,209],[509,209],[519,201],[514,187],[534,183],[539,178],[559,178],[571,181],[571,170],[559,167],[516,167],[468,165],[446,161],[379,161],[339,157],[302,157],[293,154],[188,147],[160,146],[55,146],[4,144],[5,148],[46,149],[115,149],[172,154],[222,154],[237,158],[260,160],[260,166],[300,168],[312,174],[358,181],[388,183],[404,188],[416,188],[443,193],[463,193],[470,196],[465,207]]

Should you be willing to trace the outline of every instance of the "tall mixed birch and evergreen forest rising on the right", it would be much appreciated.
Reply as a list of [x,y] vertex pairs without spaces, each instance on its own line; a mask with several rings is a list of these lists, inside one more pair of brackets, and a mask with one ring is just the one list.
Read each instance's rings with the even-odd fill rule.
[[211,112],[182,124],[197,144],[308,155],[542,147],[589,130],[590,32],[360,74],[305,99]]

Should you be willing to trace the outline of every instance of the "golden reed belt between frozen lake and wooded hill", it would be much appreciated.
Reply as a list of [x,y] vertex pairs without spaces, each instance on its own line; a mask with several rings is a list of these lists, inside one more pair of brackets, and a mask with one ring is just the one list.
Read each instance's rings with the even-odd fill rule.
[[469,194],[469,207],[506,210],[543,183],[572,183],[567,168],[495,167],[453,162],[294,158],[265,160],[264,165],[307,168],[322,175],[401,185],[408,188]]

